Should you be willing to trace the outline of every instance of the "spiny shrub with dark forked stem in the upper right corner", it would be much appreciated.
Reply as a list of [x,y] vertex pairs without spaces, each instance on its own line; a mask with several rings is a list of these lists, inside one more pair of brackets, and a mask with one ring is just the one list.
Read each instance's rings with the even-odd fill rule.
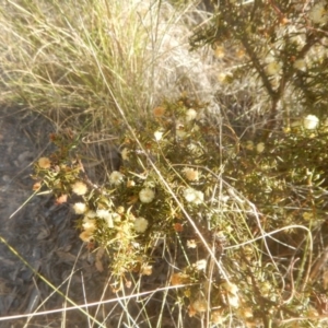
[[281,115],[326,115],[327,17],[325,1],[220,1],[212,21],[190,44],[232,47],[245,55],[233,75],[250,72],[260,80],[270,99],[272,129]]

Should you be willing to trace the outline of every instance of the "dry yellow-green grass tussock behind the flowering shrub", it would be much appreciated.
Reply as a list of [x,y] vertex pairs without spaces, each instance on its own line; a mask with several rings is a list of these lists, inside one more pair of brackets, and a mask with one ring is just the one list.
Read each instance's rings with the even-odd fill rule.
[[194,4],[8,1],[1,15],[2,99],[60,124],[81,126],[82,112],[99,130],[120,118],[116,101],[141,120],[165,96],[211,93],[211,60],[188,51],[192,26],[207,19]]

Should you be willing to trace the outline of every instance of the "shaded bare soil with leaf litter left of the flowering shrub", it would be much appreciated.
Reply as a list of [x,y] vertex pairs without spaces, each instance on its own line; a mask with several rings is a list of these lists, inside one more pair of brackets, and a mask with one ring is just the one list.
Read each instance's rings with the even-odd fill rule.
[[33,163],[49,152],[48,136],[54,131],[44,117],[27,113],[0,109],[0,236],[12,247],[0,243],[0,327],[61,327],[62,320],[66,327],[87,327],[79,311],[68,312],[66,318],[61,313],[1,320],[65,304],[58,293],[49,297],[51,288],[17,254],[78,304],[99,301],[108,277],[106,269],[95,269],[94,255],[79,239],[77,215],[68,203],[57,206],[49,195],[26,202],[33,195]]

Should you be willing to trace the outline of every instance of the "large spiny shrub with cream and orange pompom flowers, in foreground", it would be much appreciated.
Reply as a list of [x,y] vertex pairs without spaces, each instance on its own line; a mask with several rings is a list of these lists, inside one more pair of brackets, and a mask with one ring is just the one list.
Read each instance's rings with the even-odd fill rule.
[[[257,144],[239,142],[230,129],[231,144],[221,149],[218,114],[213,124],[207,104],[185,96],[163,103],[143,130],[121,137],[124,164],[102,186],[83,173],[77,141],[70,142],[74,157],[60,145],[63,157],[52,155],[46,168],[36,165],[36,177],[50,190],[59,185],[62,194],[81,195],[73,206],[83,216],[80,236],[106,251],[116,289],[129,281],[129,272],[151,274],[156,241],[169,245],[178,236],[187,263],[173,272],[172,284],[187,284],[177,296],[189,315],[208,312],[216,323],[229,314],[249,323],[271,321],[278,313],[283,319],[306,316],[311,295],[321,292],[308,281],[306,259],[313,250],[308,233],[323,222],[326,126],[315,120],[306,129],[305,118],[293,131]],[[81,192],[74,179],[84,184]],[[274,257],[286,244],[288,262],[279,261]],[[214,247],[219,266],[207,247]],[[290,265],[296,280],[291,278],[288,291],[283,274],[293,254],[303,269]]]

